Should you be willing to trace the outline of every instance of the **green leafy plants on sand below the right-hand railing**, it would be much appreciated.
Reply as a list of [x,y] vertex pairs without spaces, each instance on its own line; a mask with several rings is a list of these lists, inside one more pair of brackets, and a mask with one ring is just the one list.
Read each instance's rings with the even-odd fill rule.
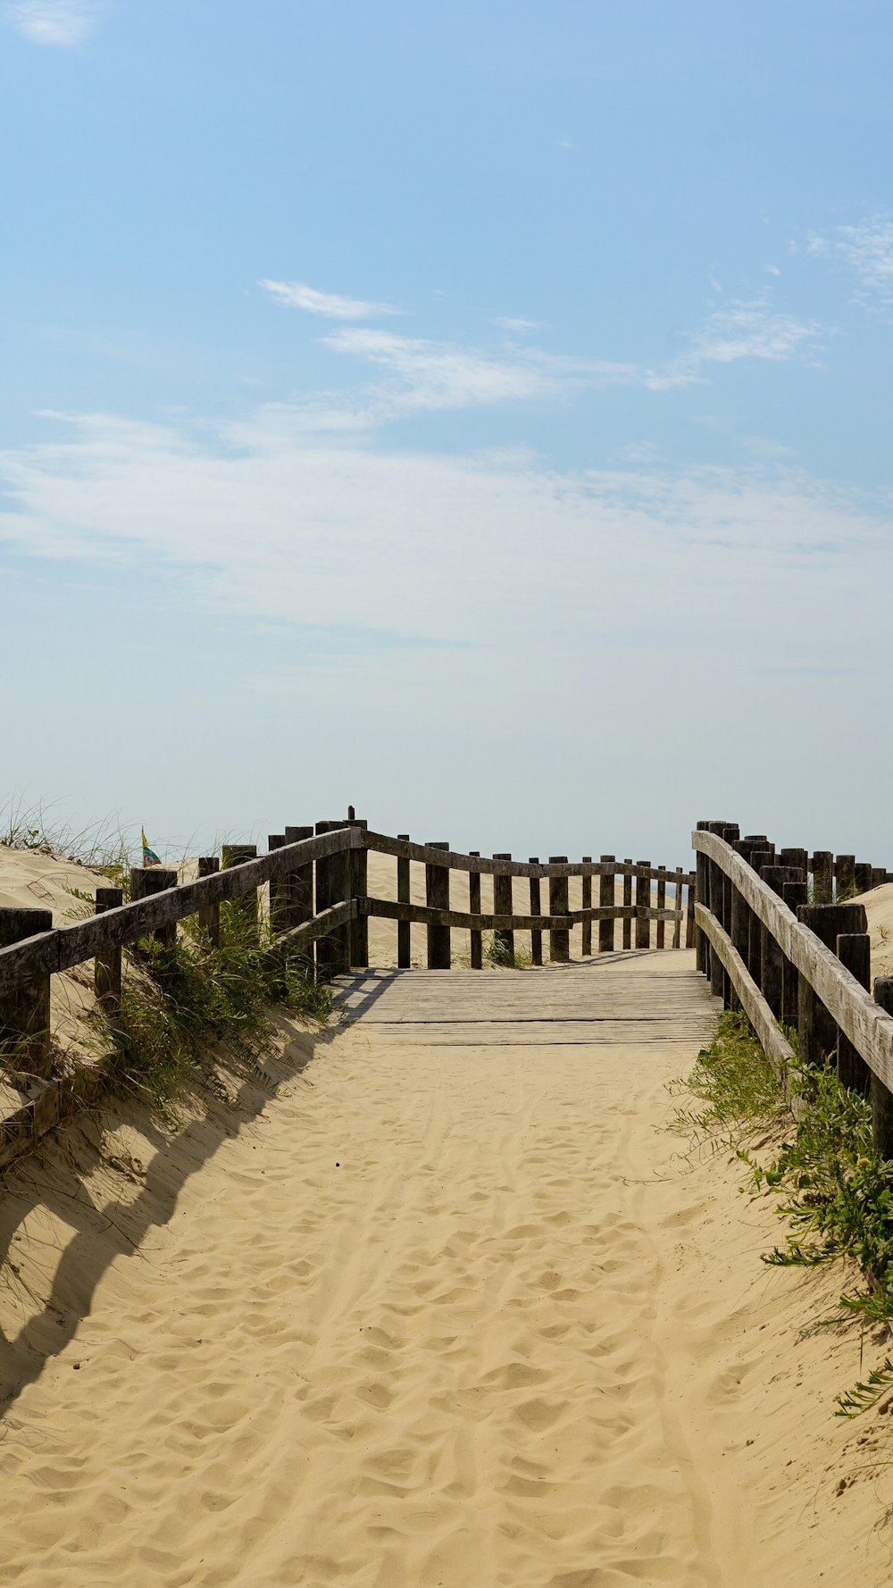
[[[853,1259],[861,1282],[844,1291],[836,1316],[856,1316],[890,1334],[893,1162],[872,1147],[868,1100],[842,1086],[833,1067],[794,1062],[782,1081],[737,1013],[723,1015],[685,1086],[702,1107],[677,1108],[675,1127],[734,1147],[748,1172],[742,1189],[777,1194],[787,1235],[763,1261],[812,1267]],[[758,1159],[766,1150],[767,1158]],[[891,1383],[887,1359],[839,1397],[837,1413],[855,1416]]]

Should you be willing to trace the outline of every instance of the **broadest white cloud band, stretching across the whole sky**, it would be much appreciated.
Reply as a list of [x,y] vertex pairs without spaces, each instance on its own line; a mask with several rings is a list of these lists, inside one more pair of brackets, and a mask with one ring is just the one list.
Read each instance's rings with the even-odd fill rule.
[[[863,613],[872,591],[882,602],[877,567],[891,559],[888,515],[791,468],[678,473],[644,456],[639,468],[559,472],[524,454],[332,443],[264,408],[210,441],[103,414],[70,430],[0,454],[13,503],[0,540],[32,557],[156,565],[191,600],[299,626],[423,629],[507,654],[535,635],[534,649],[583,654],[594,602],[623,635],[624,613],[661,624],[674,591],[674,634],[688,632],[693,602],[698,643],[737,635],[772,649],[791,640],[796,569],[804,643],[821,634],[825,646],[847,632],[850,596]],[[704,616],[706,583],[725,592],[721,632]]]

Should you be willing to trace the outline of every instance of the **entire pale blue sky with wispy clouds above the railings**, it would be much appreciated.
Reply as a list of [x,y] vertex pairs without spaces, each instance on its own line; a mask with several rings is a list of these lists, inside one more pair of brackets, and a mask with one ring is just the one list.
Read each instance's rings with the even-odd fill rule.
[[893,865],[880,3],[0,6],[3,788]]

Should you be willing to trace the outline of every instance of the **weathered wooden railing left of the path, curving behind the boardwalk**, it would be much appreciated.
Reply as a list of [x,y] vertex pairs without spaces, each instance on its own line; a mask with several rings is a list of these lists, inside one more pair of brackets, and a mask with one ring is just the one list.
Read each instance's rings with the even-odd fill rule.
[[[392,856],[397,862],[396,899],[369,896],[369,853]],[[424,864],[426,904],[410,900],[410,864]],[[450,875],[464,873],[469,908],[450,905]],[[480,878],[493,877],[494,910],[481,912]],[[582,908],[569,907],[569,878],[582,880]],[[515,910],[516,880],[529,885],[529,910]],[[593,905],[593,880],[599,880],[599,902]],[[623,902],[617,902],[617,878]],[[542,910],[542,883],[548,881],[548,910]],[[651,889],[656,885],[656,907]],[[667,885],[674,891],[667,907]],[[46,1075],[49,1046],[51,977],[86,961],[94,961],[97,997],[114,1002],[121,992],[121,953],[127,945],[154,935],[172,942],[178,921],[197,916],[211,943],[219,942],[221,904],[245,899],[248,918],[259,919],[257,889],[269,886],[269,942],[276,951],[313,956],[316,975],[331,978],[369,966],[369,919],[397,923],[397,966],[410,964],[410,927],[427,929],[429,969],[450,969],[451,934],[470,934],[470,966],[483,967],[483,934],[493,932],[497,958],[512,959],[513,934],[531,934],[534,966],[543,962],[543,934],[548,958],[561,964],[570,958],[570,932],[582,929],[582,954],[593,950],[593,923],[597,923],[597,951],[617,946],[693,946],[694,875],[682,867],[667,870],[650,861],[617,861],[602,854],[569,862],[551,856],[548,862],[513,861],[510,854],[486,858],[461,854],[446,843],[412,843],[369,832],[367,824],[321,821],[316,829],[286,827],[269,840],[269,853],[253,845],[227,845],[221,856],[199,861],[195,881],[178,881],[165,867],[135,869],[130,873],[130,900],[118,888],[97,888],[95,915],[70,926],[54,927],[48,910],[0,908],[0,1050],[14,1051],[16,1064],[32,1075]],[[621,931],[617,934],[617,923]],[[672,942],[667,943],[667,926]],[[617,942],[620,935],[620,943]]]

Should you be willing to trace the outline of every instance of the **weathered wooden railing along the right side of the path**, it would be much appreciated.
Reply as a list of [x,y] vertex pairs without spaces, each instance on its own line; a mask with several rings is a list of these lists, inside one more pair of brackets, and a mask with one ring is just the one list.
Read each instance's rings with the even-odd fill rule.
[[[890,880],[853,856],[780,850],[733,823],[699,823],[698,969],[726,1008],[744,1008],[780,1072],[836,1062],[871,1096],[879,1151],[893,1158],[893,977],[874,980],[864,905],[852,894]],[[809,885],[812,877],[812,886]]]

